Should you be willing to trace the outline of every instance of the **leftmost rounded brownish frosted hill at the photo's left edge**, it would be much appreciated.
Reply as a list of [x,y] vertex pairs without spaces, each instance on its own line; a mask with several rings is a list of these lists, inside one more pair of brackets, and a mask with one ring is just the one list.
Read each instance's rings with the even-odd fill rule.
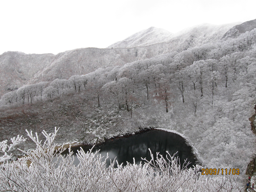
[[0,55],[0,95],[18,89],[39,71],[47,68],[54,54],[5,52]]

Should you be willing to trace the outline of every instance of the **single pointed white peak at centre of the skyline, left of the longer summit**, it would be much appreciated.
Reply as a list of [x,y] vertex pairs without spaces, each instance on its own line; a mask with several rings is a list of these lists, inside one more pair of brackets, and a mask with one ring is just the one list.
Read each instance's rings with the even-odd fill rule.
[[123,41],[118,41],[110,45],[108,48],[132,48],[136,46],[143,47],[167,42],[170,38],[172,38],[172,36],[173,34],[165,29],[150,27],[131,35]]

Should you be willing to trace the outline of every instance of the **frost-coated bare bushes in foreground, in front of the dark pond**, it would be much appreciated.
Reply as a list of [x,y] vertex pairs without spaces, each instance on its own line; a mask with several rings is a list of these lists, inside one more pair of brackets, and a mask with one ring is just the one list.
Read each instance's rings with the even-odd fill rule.
[[[128,163],[127,166],[118,165],[112,162],[106,167],[106,158],[96,153],[85,153],[82,148],[78,151],[79,165],[73,165],[73,152],[64,157],[61,153],[65,150],[61,146],[55,150],[53,144],[57,134],[55,132],[44,134],[44,144],[35,137],[32,132],[28,136],[37,144],[37,148],[31,152],[25,152],[27,157],[20,158],[14,162],[4,162],[0,165],[0,191],[49,191],[49,192],[214,192],[232,191],[238,192],[241,189],[237,186],[236,179],[229,176],[206,177],[201,176],[196,166],[187,169],[182,167],[178,159],[167,155],[167,161],[157,155],[154,159],[146,161],[144,165]],[[58,159],[59,161],[56,161]],[[30,166],[27,162],[31,161]],[[117,167],[114,166],[117,163]]]

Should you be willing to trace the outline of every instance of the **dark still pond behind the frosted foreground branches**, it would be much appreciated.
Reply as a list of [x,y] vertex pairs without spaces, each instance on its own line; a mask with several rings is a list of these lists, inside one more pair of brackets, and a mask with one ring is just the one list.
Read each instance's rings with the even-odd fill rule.
[[[84,151],[89,151],[91,147],[84,146],[82,147]],[[124,163],[126,165],[127,161],[133,163],[133,158],[135,158],[135,162],[139,163],[142,161],[142,158],[146,158],[150,161],[150,148],[154,157],[157,152],[160,152],[164,157],[167,155],[166,151],[170,153],[170,155],[175,154],[175,157],[180,158],[180,163],[183,164],[185,159],[187,162],[191,162],[189,167],[192,167],[196,164],[196,157],[192,153],[192,148],[188,146],[185,142],[185,139],[176,133],[161,131],[157,129],[153,129],[150,131],[142,132],[136,135],[116,138],[112,140],[108,140],[107,142],[100,144],[94,147],[93,151],[99,150],[102,155],[106,157],[108,153],[109,159],[113,159],[115,157],[119,164]],[[72,150],[76,151],[79,148],[72,148]],[[144,161],[142,161],[143,163]],[[78,164],[79,160],[76,158],[75,164]],[[108,161],[108,165],[110,160]]]

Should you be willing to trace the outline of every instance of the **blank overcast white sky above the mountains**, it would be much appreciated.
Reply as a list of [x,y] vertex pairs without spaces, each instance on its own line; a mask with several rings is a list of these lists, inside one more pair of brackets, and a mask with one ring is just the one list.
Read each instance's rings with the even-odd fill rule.
[[106,48],[151,26],[176,33],[256,19],[255,0],[0,0],[0,54]]

